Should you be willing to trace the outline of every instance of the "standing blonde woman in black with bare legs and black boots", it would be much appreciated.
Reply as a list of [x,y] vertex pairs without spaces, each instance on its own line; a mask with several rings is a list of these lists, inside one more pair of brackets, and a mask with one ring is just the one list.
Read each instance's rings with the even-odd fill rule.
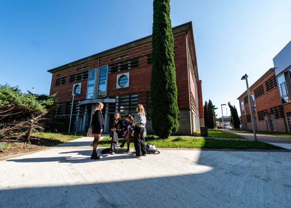
[[99,160],[100,157],[97,155],[96,149],[97,145],[100,142],[101,133],[103,132],[104,128],[104,118],[102,115],[103,103],[98,102],[97,107],[93,112],[92,117],[92,133],[94,134],[94,141],[93,141],[93,153],[91,155],[91,160]]

